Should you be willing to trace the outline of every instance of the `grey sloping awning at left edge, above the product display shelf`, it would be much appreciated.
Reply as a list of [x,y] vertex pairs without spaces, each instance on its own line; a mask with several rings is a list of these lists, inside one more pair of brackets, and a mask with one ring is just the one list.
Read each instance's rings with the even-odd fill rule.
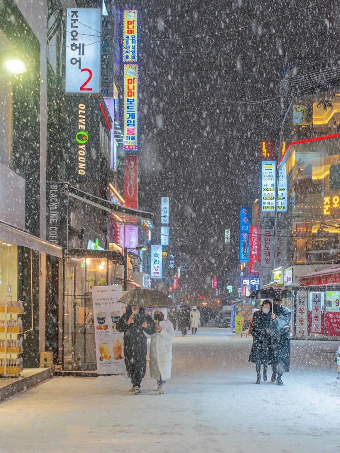
[[10,244],[27,247],[41,253],[46,253],[47,255],[63,258],[62,247],[52,244],[52,242],[44,241],[44,239],[40,239],[37,236],[32,236],[25,231],[18,230],[3,222],[0,222],[0,239]]

